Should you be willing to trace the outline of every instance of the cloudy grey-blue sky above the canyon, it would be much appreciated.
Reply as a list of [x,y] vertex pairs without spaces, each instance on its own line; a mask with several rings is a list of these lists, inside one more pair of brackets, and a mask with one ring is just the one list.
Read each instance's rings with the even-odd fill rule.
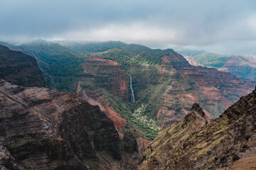
[[34,39],[256,54],[256,1],[0,0],[0,40]]

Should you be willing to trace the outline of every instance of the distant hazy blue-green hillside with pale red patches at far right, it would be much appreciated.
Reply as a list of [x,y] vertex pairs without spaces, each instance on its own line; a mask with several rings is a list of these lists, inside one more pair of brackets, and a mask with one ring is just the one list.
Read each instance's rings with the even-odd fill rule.
[[[205,51],[181,51],[192,65],[198,63],[205,67],[215,68],[221,72],[230,72],[242,79],[256,80],[256,62],[248,57],[233,55],[218,55]],[[197,63],[198,62],[198,63]]]

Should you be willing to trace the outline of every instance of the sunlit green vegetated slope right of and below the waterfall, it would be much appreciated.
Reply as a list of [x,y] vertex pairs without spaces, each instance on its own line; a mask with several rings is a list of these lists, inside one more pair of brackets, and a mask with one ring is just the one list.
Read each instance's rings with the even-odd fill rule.
[[[170,50],[151,50],[142,45],[128,45],[127,49],[114,48],[106,52],[93,53],[90,57],[114,60],[122,64],[127,74],[132,75],[136,103],[122,101],[122,98],[114,96],[111,91],[107,91],[103,86],[100,87],[99,83],[90,84],[89,82],[95,81],[92,78],[87,81],[90,88],[88,85],[85,89],[90,89],[90,91],[94,91],[92,93],[95,93],[95,86],[97,86],[97,89],[100,89],[97,94],[107,96],[107,101],[103,100],[102,103],[110,103],[110,107],[127,119],[134,129],[144,132],[144,134],[141,134],[135,130],[137,135],[142,135],[148,140],[154,140],[160,129],[159,123],[156,123],[156,113],[162,104],[159,99],[167,87],[164,84],[159,84],[159,63],[161,57],[168,55]],[[97,81],[99,81],[98,78]],[[105,81],[110,81],[110,79],[105,79]],[[87,93],[90,93],[90,91],[87,91]],[[136,114],[136,111],[142,105],[144,106],[143,112]]]

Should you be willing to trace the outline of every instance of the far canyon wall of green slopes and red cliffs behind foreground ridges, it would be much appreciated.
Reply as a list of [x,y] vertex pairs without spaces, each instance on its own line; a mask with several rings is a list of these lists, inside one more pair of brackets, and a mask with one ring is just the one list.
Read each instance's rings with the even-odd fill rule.
[[77,92],[100,106],[119,135],[133,130],[137,137],[154,140],[160,128],[186,116],[193,103],[218,118],[255,86],[252,80],[193,66],[171,49],[122,42],[58,43],[37,41],[13,48],[36,57],[50,89]]

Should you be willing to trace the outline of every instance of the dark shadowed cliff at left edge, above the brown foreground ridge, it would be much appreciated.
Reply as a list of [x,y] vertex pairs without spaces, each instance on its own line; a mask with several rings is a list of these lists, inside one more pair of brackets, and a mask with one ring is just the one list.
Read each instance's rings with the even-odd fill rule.
[[45,87],[36,59],[0,45],[0,78],[21,86]]

